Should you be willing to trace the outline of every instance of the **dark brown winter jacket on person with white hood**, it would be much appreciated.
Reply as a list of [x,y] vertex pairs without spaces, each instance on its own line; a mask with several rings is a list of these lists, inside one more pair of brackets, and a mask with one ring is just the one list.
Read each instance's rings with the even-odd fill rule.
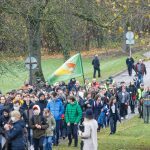
[[[35,127],[35,125],[41,125],[41,129]],[[45,136],[46,129],[48,128],[46,119],[42,115],[34,115],[30,119],[30,128],[33,129],[33,138],[39,139],[42,136]]]

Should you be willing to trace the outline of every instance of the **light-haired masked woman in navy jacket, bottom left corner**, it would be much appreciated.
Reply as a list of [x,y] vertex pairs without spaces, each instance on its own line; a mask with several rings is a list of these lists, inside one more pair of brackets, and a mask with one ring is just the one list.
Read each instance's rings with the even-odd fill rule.
[[19,111],[14,110],[11,112],[12,124],[6,124],[4,129],[6,130],[5,137],[9,143],[9,150],[25,150],[25,137],[24,128],[25,123],[21,120],[21,114]]

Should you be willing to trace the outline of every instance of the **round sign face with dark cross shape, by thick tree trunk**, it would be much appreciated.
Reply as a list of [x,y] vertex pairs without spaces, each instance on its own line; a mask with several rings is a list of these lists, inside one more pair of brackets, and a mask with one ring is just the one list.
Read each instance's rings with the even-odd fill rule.
[[25,65],[26,65],[26,68],[27,69],[35,69],[37,67],[37,60],[35,57],[28,57],[26,60],[25,60]]

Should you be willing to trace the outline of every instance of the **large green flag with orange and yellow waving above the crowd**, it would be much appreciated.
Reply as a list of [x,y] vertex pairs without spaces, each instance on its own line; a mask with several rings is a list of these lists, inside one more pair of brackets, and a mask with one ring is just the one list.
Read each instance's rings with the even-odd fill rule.
[[53,84],[58,81],[68,80],[83,75],[81,54],[78,53],[68,59],[49,78],[48,83]]

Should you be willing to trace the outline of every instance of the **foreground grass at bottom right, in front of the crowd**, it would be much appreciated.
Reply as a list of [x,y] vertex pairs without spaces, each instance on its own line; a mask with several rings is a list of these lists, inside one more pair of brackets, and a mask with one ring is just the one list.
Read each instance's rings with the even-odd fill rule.
[[[109,128],[98,133],[98,150],[150,150],[150,124],[144,124],[137,116],[124,123],[119,123],[117,133],[109,135]],[[67,142],[54,150],[79,150],[67,147]]]

